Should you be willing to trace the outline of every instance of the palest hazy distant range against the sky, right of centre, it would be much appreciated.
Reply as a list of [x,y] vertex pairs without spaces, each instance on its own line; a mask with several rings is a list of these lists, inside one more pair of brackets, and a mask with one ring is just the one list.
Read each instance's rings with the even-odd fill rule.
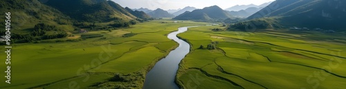
[[263,3],[261,5],[255,5],[255,4],[249,4],[249,5],[235,5],[233,7],[230,7],[230,8],[227,8],[225,10],[228,10],[228,11],[239,11],[239,10],[246,10],[247,8],[264,8],[266,7],[267,5],[269,5],[271,2],[268,2],[268,3]]

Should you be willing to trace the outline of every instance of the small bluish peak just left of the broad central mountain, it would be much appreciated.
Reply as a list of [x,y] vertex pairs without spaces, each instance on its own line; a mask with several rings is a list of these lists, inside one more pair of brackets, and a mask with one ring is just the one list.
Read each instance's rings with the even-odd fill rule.
[[160,8],[158,8],[158,9],[152,11],[152,12],[149,12],[148,14],[149,14],[149,16],[152,16],[153,18],[170,18],[170,17],[174,17],[173,14],[170,14],[167,11],[162,10]]

